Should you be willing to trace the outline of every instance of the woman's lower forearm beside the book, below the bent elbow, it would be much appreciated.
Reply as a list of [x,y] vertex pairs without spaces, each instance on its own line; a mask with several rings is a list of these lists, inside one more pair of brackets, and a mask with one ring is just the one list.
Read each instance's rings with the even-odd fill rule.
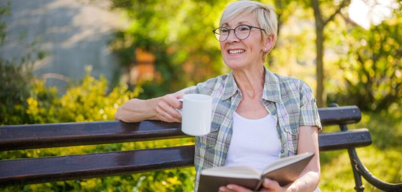
[[313,192],[320,180],[318,172],[308,171],[294,181],[288,188],[288,192]]

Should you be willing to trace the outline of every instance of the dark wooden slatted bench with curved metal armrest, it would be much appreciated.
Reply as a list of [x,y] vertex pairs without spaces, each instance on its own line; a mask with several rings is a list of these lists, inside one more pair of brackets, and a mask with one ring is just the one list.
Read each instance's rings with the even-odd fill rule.
[[[361,119],[356,106],[318,109],[321,123],[339,125],[341,131],[318,135],[320,151],[347,149],[357,192],[364,190],[363,176],[384,191],[402,191],[402,184],[390,184],[373,176],[357,157],[355,147],[372,143],[368,129],[348,130],[347,124]],[[98,121],[55,124],[0,126],[0,150],[112,144],[189,137],[180,131],[180,123],[145,120],[137,123]],[[0,186],[26,185],[78,180],[120,174],[194,166],[194,145],[13,159],[0,161]]]

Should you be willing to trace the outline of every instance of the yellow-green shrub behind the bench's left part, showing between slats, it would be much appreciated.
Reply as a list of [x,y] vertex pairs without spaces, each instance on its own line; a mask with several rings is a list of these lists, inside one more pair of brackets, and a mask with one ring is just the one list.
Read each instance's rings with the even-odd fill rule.
[[[134,91],[129,91],[127,85],[120,85],[108,93],[107,80],[103,77],[95,79],[90,76],[89,72],[87,71],[87,75],[79,86],[68,89],[66,95],[61,97],[57,96],[55,88],[46,88],[44,81],[32,80],[34,82],[31,86],[32,91],[24,102],[27,107],[23,117],[27,117],[27,119],[20,118],[16,124],[113,120],[113,115],[118,106],[137,97],[142,91],[139,87],[135,88]],[[20,113],[24,113],[24,111],[20,111]],[[13,119],[14,117],[8,118]],[[194,144],[194,139],[3,151],[0,152],[0,159],[74,155],[183,144]],[[194,175],[194,168],[183,168],[79,181],[16,186],[2,190],[190,192],[194,188]]]

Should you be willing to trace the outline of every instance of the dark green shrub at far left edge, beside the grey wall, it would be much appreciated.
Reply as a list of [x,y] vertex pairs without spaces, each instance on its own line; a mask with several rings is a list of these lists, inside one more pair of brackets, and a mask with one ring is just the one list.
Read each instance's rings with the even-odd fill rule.
[[[0,16],[11,15],[11,3],[8,1],[6,5],[0,6]],[[0,21],[0,51],[6,37],[6,25],[4,21]],[[22,34],[22,39],[24,35]],[[47,52],[40,48],[40,39],[36,39],[28,45],[25,45],[24,54],[19,58],[6,59],[0,57],[0,124],[18,124],[18,123],[34,123],[29,120],[30,117],[26,113],[28,103],[26,102],[30,96],[30,90],[34,82],[32,79],[33,63],[42,60]],[[39,99],[42,99],[42,93]],[[44,98],[47,99],[47,98]]]

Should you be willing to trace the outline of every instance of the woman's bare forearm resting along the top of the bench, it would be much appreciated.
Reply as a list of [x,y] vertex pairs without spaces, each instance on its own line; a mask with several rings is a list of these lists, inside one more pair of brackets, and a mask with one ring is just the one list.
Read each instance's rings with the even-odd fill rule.
[[114,119],[125,122],[157,120],[156,106],[159,99],[160,97],[148,100],[130,99],[117,109]]

